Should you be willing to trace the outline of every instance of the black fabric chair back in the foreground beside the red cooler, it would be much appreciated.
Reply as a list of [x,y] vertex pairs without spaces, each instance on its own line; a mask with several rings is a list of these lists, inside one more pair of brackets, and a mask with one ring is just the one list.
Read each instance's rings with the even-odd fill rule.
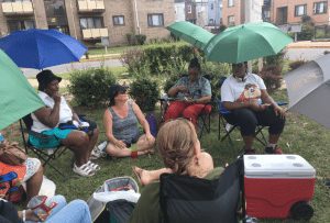
[[[207,180],[175,174],[161,176],[160,204],[167,223],[235,223],[243,186],[242,158],[224,169],[219,179]],[[242,197],[243,199],[243,197]]]

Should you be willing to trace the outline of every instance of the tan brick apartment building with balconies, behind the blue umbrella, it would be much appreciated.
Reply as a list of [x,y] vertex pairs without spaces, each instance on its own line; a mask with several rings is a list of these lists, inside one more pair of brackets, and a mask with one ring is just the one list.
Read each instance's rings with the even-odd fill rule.
[[175,21],[174,0],[2,0],[0,36],[16,30],[57,29],[86,44],[109,37],[127,43],[127,34],[147,40],[169,35]]

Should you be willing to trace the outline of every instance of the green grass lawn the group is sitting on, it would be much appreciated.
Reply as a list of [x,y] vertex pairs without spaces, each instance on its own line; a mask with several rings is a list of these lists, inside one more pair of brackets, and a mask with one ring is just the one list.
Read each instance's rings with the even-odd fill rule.
[[[274,94],[276,100],[286,100],[285,91],[277,91]],[[105,132],[102,126],[102,114],[105,108],[101,109],[86,109],[75,108],[79,113],[85,113],[92,120],[96,120],[100,127],[99,142],[105,140]],[[226,163],[235,160],[240,153],[243,143],[239,132],[233,132],[233,145],[228,141],[218,141],[218,114],[213,113],[211,121],[211,133],[205,134],[201,138],[202,147],[209,152],[216,166],[223,166]],[[7,129],[10,140],[20,140],[18,132],[18,124]],[[223,134],[223,132],[221,132]],[[266,134],[266,132],[265,132]],[[330,190],[323,186],[323,179],[330,177],[330,131],[322,127],[318,123],[295,114],[287,112],[287,122],[284,133],[280,137],[279,145],[286,154],[298,154],[306,158],[317,170],[317,181],[315,187],[315,196],[311,205],[315,209],[315,215],[310,222],[322,223],[330,220]],[[255,148],[263,153],[263,146],[255,143]],[[31,155],[31,154],[30,154]],[[95,189],[103,183],[105,180],[118,176],[132,176],[131,167],[136,165],[146,169],[154,169],[162,167],[162,159],[157,155],[142,156],[136,159],[118,158],[118,159],[98,159],[97,163],[101,166],[101,170],[91,178],[78,177],[72,171],[73,155],[69,150],[65,153],[59,159],[53,164],[65,172],[65,178],[58,176],[51,168],[45,170],[45,175],[52,179],[56,186],[56,193],[65,196],[68,200],[84,199],[87,200]],[[256,186],[257,187],[257,186]],[[294,222],[292,220],[264,220],[261,222]]]

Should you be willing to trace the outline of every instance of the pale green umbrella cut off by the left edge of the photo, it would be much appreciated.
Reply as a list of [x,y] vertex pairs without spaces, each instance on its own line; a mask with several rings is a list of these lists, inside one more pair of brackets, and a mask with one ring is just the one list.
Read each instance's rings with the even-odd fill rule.
[[0,49],[0,130],[44,107],[18,66]]

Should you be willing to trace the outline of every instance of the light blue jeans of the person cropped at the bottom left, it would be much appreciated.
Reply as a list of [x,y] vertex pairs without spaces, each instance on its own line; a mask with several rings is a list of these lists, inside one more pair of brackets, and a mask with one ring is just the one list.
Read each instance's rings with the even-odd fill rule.
[[57,205],[46,219],[46,223],[91,223],[90,212],[85,201],[74,200],[67,204],[63,196],[55,196],[51,200]]

